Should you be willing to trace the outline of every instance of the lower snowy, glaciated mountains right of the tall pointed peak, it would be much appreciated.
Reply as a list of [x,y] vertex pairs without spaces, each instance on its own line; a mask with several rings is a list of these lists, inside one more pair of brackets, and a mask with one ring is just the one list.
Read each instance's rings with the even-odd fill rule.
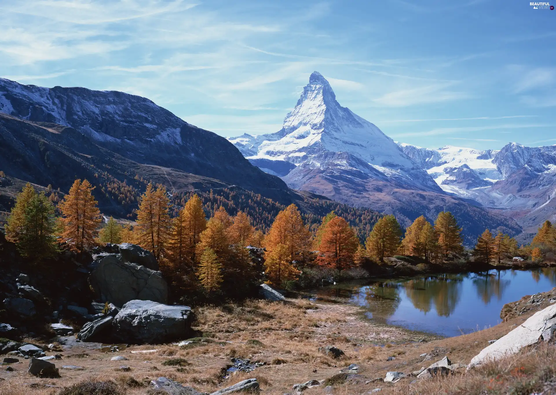
[[545,220],[556,220],[556,145],[512,142],[499,151],[400,146],[444,191],[517,219],[524,228],[522,240],[532,238]]

